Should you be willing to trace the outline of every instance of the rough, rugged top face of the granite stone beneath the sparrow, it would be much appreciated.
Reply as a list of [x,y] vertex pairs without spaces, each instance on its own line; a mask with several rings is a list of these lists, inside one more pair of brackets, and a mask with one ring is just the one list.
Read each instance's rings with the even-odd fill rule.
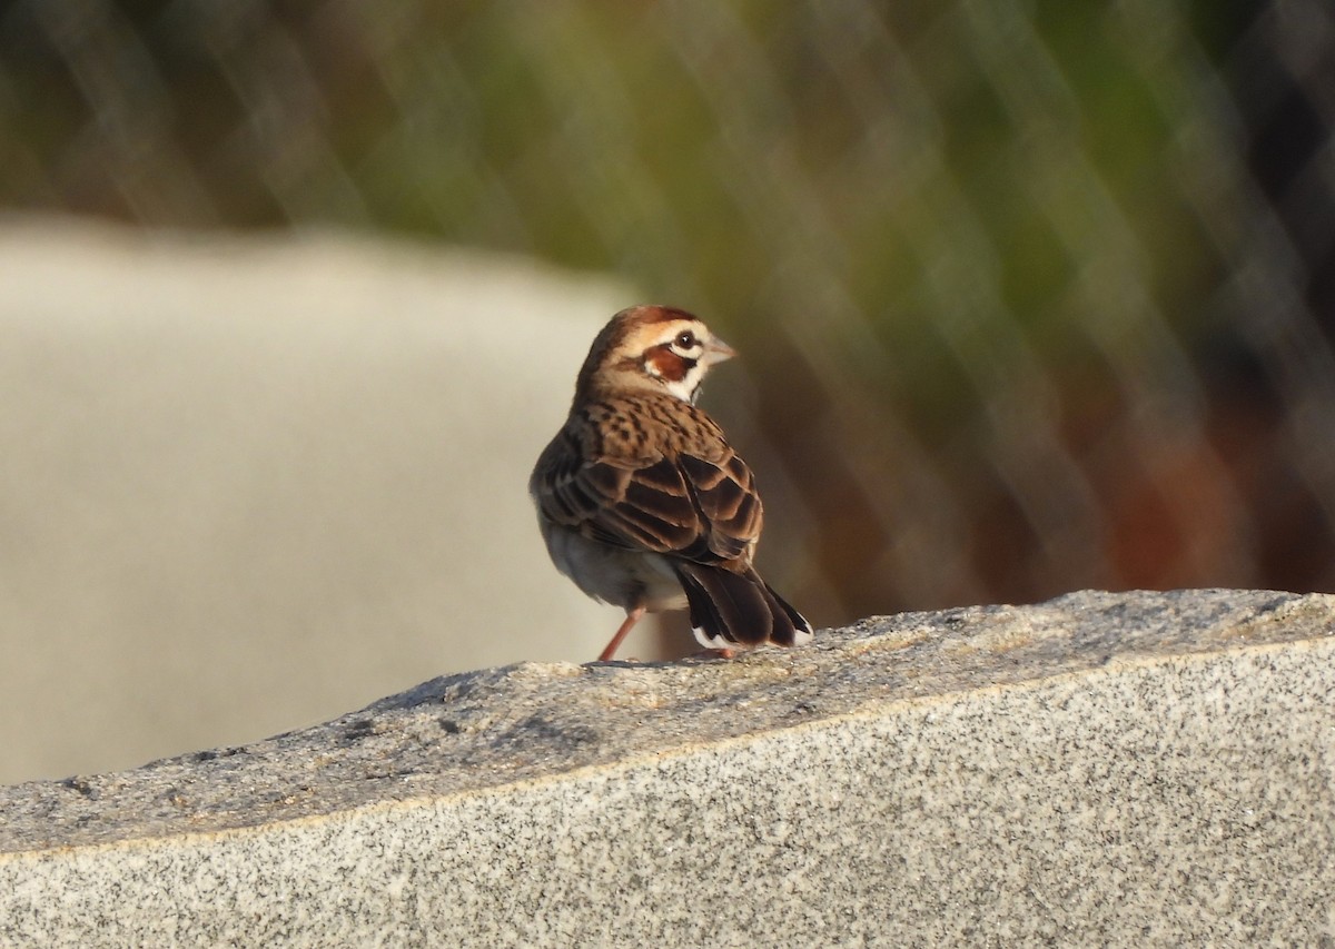
[[477,793],[886,703],[1332,631],[1327,594],[1083,591],[873,617],[734,661],[479,670],[242,747],[0,789],[0,858]]

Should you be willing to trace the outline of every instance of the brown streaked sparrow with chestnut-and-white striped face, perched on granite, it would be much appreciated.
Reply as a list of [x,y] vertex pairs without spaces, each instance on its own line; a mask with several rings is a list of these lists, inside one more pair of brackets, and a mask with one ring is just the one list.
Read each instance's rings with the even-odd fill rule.
[[756,573],[756,478],[696,406],[709,370],[734,355],[689,312],[622,310],[593,340],[570,415],[533,468],[529,494],[557,570],[626,611],[599,662],[659,610],[689,609],[696,639],[724,657],[813,635]]

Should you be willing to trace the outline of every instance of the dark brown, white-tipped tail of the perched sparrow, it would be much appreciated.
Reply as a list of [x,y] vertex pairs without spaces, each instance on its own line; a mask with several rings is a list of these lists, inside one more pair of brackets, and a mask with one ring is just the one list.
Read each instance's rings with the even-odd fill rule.
[[696,638],[710,649],[810,641],[812,625],[760,578],[754,569],[733,573],[705,563],[676,563],[686,591]]

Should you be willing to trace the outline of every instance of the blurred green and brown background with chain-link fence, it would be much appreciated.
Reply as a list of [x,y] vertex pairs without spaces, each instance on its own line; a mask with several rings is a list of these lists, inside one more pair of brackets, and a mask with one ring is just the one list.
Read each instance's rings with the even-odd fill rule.
[[761,567],[820,626],[1335,590],[1326,0],[0,11],[3,211],[498,252],[702,315]]

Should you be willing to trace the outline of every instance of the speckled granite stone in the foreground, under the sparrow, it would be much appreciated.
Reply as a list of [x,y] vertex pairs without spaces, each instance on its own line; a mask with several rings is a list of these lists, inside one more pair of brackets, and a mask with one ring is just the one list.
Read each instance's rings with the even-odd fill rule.
[[0,792],[0,945],[228,942],[1335,946],[1335,597],[510,666]]

